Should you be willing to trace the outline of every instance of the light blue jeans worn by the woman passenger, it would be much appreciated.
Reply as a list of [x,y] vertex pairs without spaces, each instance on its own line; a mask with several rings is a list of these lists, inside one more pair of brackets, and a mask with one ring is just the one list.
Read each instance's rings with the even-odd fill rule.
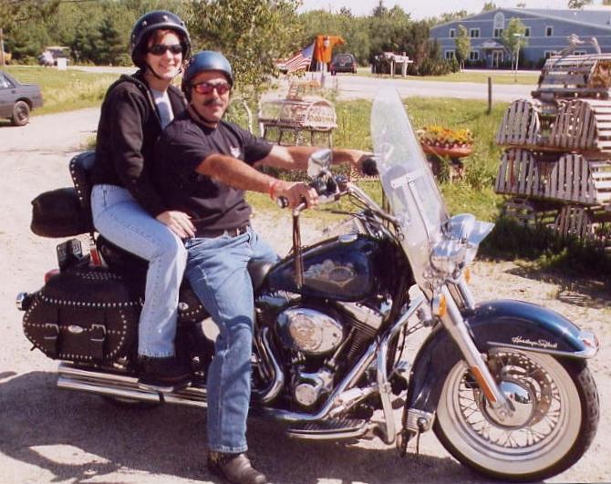
[[91,211],[99,233],[149,261],[138,328],[138,354],[174,355],[178,295],[187,263],[181,239],[151,217],[129,191],[115,185],[93,187]]

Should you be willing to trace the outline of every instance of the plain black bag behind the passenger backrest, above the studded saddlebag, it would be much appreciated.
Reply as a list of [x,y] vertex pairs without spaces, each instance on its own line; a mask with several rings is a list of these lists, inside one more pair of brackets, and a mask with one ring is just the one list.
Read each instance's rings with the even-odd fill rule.
[[30,228],[41,237],[72,237],[94,230],[91,213],[83,209],[74,188],[38,195],[32,201]]

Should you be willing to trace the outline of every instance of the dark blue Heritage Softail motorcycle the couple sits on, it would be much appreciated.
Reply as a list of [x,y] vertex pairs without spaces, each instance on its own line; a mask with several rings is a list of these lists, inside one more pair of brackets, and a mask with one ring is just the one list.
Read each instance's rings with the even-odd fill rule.
[[[285,424],[293,438],[380,438],[401,456],[432,430],[462,464],[496,479],[547,479],[568,469],[598,423],[586,364],[598,351],[595,335],[534,304],[477,304],[469,266],[492,223],[448,215],[398,93],[375,99],[371,134],[374,160],[365,168],[378,171],[384,201],[334,176],[330,151],[317,152],[312,186],[321,202],[350,202],[354,229],[304,247],[305,207],[297,207],[292,252],[274,266],[249,266],[252,415]],[[33,221],[36,232],[91,232],[95,244],[86,255],[77,239],[60,244],[59,270],[40,290],[18,295],[26,336],[60,360],[60,388],[122,405],[205,407],[213,335],[186,283],[176,348],[192,385],[163,393],[138,384],[146,266],[93,232],[91,162],[90,153],[71,161],[75,200],[57,202],[67,189],[41,195],[56,201],[51,212],[64,227],[35,201],[35,212],[42,204],[46,213]],[[372,418],[377,410],[381,421]]]

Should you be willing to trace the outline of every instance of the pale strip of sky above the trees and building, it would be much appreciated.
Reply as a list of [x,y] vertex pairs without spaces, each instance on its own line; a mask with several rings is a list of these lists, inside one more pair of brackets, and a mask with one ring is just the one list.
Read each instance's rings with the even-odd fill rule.
[[[354,15],[369,15],[378,5],[378,0],[302,0],[303,5],[300,12],[323,8],[331,9],[333,12],[339,11],[341,6],[347,6]],[[482,11],[485,0],[461,0],[453,2],[450,0],[383,0],[384,6],[390,8],[399,5],[408,12],[413,19],[421,20],[430,16],[466,10],[470,14],[477,14]],[[567,8],[568,0],[492,0],[496,6],[515,7],[516,4],[526,4],[526,8]],[[600,4],[600,0],[595,0],[594,5]]]

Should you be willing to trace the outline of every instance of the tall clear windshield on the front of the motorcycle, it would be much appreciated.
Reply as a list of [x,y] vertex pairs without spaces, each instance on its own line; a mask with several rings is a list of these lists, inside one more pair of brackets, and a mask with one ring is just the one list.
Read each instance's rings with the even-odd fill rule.
[[429,163],[396,90],[380,92],[371,110],[379,178],[417,283],[430,274],[430,252],[448,214]]

